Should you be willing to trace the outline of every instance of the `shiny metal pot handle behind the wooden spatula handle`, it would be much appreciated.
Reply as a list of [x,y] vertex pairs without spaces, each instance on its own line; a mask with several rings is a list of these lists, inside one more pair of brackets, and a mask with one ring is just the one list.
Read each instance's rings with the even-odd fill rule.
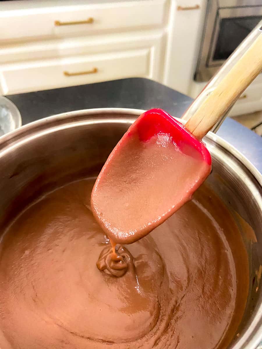
[[[262,7],[261,7],[262,10]],[[223,80],[224,76],[231,70],[231,68],[236,64],[236,62],[242,57],[242,55],[246,52],[248,47],[250,47],[255,39],[261,35],[262,31],[262,20],[257,24],[257,26],[252,30],[252,32],[247,36],[247,38],[238,46],[238,48],[231,54],[231,56],[226,60],[224,65],[220,68],[216,75],[209,81],[209,83],[205,86],[203,91],[197,96],[195,101],[190,105],[188,110],[182,116],[182,119],[189,120],[191,116],[197,111],[198,107],[204,102],[206,97],[216,88],[221,80]],[[241,97],[240,97],[241,98]],[[231,105],[230,109],[233,105]],[[211,129],[212,132],[216,133],[221,126],[222,122],[227,117],[227,114],[230,112],[230,109],[225,113],[225,115],[218,120],[216,125],[214,125]]]

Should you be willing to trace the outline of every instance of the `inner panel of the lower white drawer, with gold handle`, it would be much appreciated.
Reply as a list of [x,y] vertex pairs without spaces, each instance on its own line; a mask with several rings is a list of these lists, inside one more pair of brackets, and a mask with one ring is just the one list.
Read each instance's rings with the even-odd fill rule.
[[8,64],[1,67],[4,94],[150,75],[150,49]]

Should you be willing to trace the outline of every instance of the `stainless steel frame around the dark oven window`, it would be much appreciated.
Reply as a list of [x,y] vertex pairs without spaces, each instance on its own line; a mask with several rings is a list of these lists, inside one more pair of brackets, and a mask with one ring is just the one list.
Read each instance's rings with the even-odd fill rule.
[[[223,18],[262,16],[262,0],[208,1],[202,42],[199,48],[195,81],[209,81],[225,60],[213,60],[219,34],[220,20]],[[246,39],[243,41],[246,42]],[[240,46],[243,44],[240,44]],[[241,52],[241,47],[236,51]],[[219,72],[221,75],[221,73]]]

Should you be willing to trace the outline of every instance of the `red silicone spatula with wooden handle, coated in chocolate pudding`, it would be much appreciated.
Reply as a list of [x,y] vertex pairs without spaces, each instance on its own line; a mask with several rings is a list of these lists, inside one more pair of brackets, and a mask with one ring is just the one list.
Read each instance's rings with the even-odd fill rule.
[[133,243],[191,198],[211,171],[203,136],[261,71],[262,35],[185,126],[161,109],[143,113],[130,126],[91,197],[93,213],[112,242]]

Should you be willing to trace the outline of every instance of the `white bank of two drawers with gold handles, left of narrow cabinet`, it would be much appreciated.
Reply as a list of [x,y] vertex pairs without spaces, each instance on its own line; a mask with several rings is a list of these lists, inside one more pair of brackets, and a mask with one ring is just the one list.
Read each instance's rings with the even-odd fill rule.
[[0,93],[162,82],[168,12],[169,0],[0,2]]

